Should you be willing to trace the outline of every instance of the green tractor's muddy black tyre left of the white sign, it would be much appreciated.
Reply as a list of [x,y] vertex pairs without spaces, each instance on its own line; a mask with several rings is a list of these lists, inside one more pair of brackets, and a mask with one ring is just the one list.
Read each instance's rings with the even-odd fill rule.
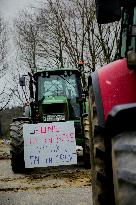
[[25,123],[28,124],[24,121],[15,121],[10,126],[10,156],[14,173],[23,173],[25,170],[23,139],[23,124]]

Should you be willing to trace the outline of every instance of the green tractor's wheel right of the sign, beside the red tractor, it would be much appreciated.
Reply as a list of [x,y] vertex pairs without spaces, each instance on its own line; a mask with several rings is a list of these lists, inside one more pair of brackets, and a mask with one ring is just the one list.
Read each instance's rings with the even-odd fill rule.
[[83,157],[85,168],[91,168],[90,163],[90,135],[89,135],[89,119],[88,116],[83,118],[84,127],[84,147],[83,147]]

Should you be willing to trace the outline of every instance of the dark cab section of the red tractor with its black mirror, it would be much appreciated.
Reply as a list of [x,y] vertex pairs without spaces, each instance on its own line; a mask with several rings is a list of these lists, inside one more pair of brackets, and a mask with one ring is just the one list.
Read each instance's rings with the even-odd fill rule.
[[118,58],[127,58],[129,69],[136,69],[136,1],[96,0],[96,16],[99,24],[121,19],[121,35]]

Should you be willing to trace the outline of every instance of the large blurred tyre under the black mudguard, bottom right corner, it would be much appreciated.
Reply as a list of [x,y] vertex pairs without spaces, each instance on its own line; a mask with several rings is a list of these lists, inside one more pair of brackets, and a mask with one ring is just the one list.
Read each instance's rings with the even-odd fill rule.
[[136,204],[136,131],[112,139],[112,166],[116,204]]

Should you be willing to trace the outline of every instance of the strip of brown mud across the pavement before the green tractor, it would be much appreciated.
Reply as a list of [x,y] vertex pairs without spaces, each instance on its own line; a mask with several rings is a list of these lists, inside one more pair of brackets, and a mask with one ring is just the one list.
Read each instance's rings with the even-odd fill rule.
[[[16,175],[15,175],[16,177]],[[49,188],[84,187],[90,186],[90,172],[30,174],[18,178],[3,178],[0,180],[0,191],[26,191]]]

